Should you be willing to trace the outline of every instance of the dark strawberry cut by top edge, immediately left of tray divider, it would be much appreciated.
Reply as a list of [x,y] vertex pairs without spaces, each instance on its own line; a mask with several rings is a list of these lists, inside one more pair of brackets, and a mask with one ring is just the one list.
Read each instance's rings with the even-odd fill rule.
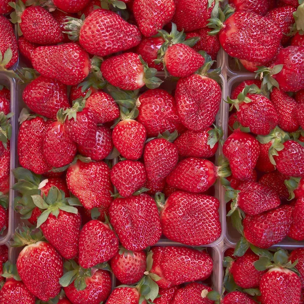
[[207,0],[174,0],[174,2],[175,14],[172,22],[177,25],[179,31],[183,29],[189,32],[207,26],[214,4],[209,7]]

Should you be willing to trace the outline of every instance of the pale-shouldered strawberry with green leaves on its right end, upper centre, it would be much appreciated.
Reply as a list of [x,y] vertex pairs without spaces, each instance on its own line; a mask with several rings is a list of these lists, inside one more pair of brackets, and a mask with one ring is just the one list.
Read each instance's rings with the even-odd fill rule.
[[122,90],[137,90],[144,85],[155,89],[162,83],[155,77],[157,70],[148,68],[135,53],[123,53],[107,58],[101,63],[100,71],[108,83]]

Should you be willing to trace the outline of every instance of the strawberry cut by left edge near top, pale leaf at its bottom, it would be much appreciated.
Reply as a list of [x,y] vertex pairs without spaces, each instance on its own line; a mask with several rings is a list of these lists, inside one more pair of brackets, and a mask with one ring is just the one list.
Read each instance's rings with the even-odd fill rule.
[[17,40],[11,22],[0,16],[0,65],[10,68],[18,60]]

